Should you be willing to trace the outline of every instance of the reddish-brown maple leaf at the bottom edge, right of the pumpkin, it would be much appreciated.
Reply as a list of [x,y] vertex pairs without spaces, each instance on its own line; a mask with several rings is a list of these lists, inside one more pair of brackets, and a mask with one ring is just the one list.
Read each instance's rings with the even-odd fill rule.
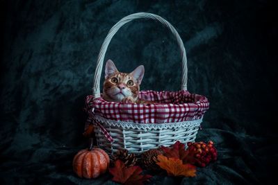
[[114,168],[109,168],[109,172],[113,175],[113,181],[126,185],[140,185],[152,177],[151,175],[141,175],[142,169],[140,166],[126,168],[124,162],[119,159],[115,161]]

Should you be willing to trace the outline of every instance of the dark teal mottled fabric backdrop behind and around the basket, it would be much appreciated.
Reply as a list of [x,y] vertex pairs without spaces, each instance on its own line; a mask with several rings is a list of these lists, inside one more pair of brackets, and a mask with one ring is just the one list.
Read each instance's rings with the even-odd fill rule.
[[[134,12],[161,15],[188,53],[188,90],[208,97],[197,141],[219,159],[197,177],[156,175],[150,184],[263,184],[277,165],[277,10],[272,1],[1,1],[0,183],[113,184],[79,179],[72,157],[82,136],[84,98],[108,30]],[[113,38],[106,60],[121,71],[145,65],[142,89],[177,91],[174,37],[150,20]]]

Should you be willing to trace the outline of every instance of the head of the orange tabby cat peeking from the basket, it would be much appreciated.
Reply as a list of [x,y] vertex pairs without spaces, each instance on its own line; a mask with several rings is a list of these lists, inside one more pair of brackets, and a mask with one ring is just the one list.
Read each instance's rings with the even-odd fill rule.
[[144,71],[145,69],[141,65],[131,73],[121,73],[117,71],[113,61],[108,60],[105,66],[103,98],[108,101],[120,102],[123,98],[131,96],[137,100]]

